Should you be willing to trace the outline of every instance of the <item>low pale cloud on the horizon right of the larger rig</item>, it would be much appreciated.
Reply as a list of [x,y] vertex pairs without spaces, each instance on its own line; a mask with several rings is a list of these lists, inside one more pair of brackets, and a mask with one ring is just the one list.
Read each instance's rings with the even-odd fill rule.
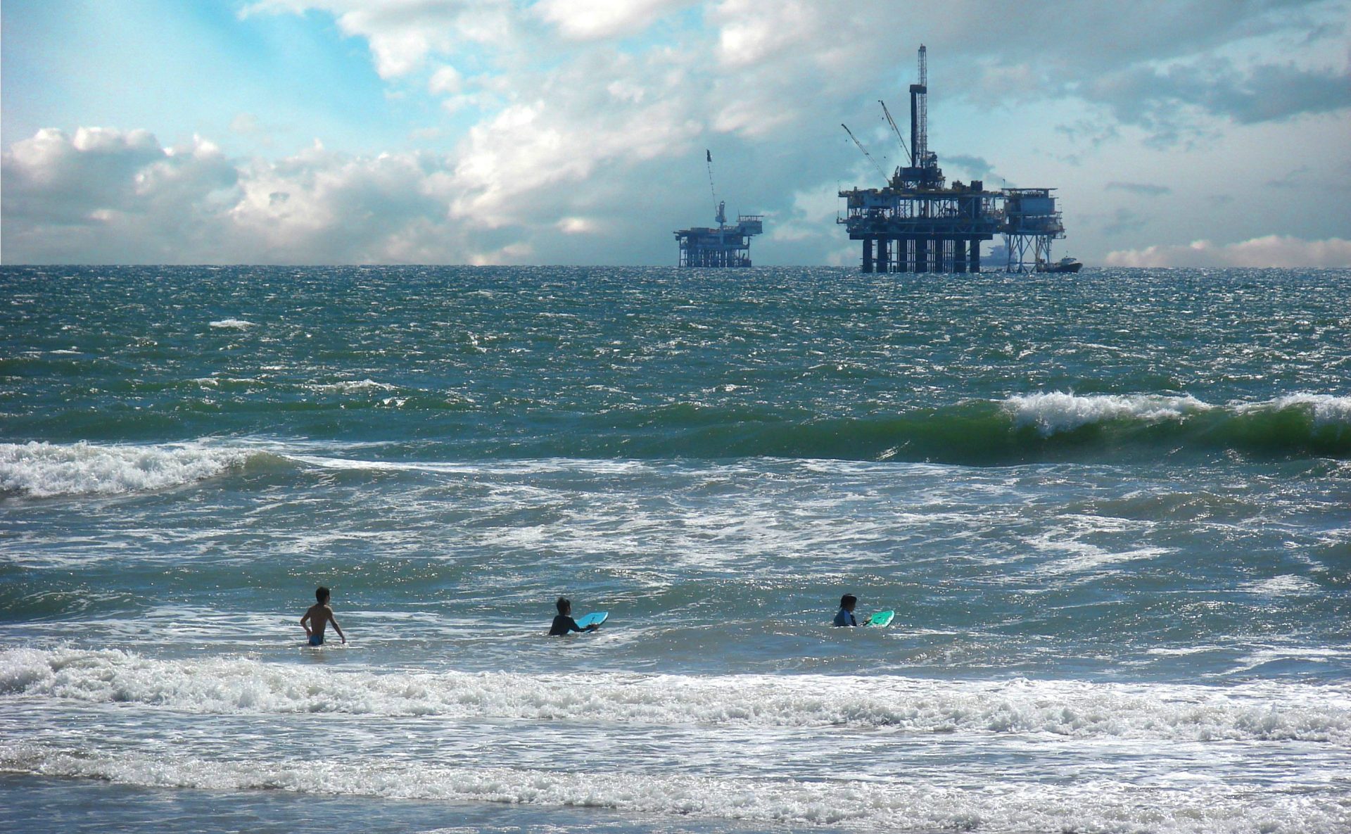
[[1186,246],[1150,246],[1108,253],[1106,266],[1351,266],[1351,241],[1302,241],[1266,235],[1242,243],[1194,241]]

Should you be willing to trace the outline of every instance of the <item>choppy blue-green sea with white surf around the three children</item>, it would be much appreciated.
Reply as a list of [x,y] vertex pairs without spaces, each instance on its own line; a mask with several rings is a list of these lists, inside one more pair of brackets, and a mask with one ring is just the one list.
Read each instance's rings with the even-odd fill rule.
[[1351,830],[1351,270],[0,289],[0,829]]

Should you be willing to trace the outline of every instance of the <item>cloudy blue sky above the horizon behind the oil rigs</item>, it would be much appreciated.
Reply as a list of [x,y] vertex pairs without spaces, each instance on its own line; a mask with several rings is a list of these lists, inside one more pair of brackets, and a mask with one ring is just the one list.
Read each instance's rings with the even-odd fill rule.
[[902,162],[878,101],[907,131],[924,43],[948,180],[1056,189],[1055,257],[1351,266],[1348,27],[1351,0],[4,0],[0,262],[674,265],[716,195],[765,215],[757,265],[858,265],[838,192]]

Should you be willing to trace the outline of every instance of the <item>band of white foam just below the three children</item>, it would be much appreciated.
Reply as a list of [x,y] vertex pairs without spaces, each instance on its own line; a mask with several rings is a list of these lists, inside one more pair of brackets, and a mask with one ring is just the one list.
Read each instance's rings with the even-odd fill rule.
[[[7,649],[0,695],[200,714],[345,712],[647,725],[859,726],[1129,739],[1351,743],[1351,689],[907,677],[347,672],[249,658]],[[866,684],[866,689],[863,688]],[[834,695],[840,689],[848,697]]]

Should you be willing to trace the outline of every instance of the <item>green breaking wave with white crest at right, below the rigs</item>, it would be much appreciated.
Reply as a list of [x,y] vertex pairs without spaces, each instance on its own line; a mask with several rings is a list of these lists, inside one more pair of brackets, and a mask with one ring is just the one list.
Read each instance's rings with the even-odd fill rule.
[[1293,395],[1215,406],[1192,396],[1016,395],[893,415],[777,418],[677,406],[597,420],[557,457],[793,457],[1008,465],[1238,450],[1351,457],[1351,397]]

